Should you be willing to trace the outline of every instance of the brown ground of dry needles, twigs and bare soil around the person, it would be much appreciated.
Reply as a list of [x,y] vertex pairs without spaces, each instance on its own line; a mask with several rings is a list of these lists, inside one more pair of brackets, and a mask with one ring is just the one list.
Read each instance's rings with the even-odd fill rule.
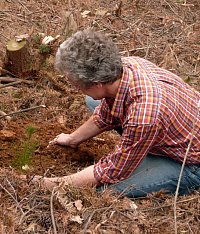
[[[0,233],[173,233],[173,196],[162,193],[132,201],[94,188],[65,187],[53,192],[30,182],[34,174],[67,175],[97,161],[114,146],[115,133],[105,133],[77,149],[46,146],[56,134],[71,132],[90,115],[84,96],[53,69],[58,45],[73,31],[87,27],[105,32],[124,56],[141,56],[180,75],[200,90],[199,0],[1,0],[0,67],[6,43],[28,33],[35,42],[35,71],[29,83],[0,86],[0,111],[11,113],[45,104],[46,108],[0,119]],[[86,10],[90,11],[84,15]],[[51,53],[39,54],[37,35],[61,35]],[[10,77],[0,71],[1,77]],[[32,125],[37,149],[28,182],[11,169]],[[25,173],[25,172],[23,172]],[[83,207],[80,207],[80,201]],[[180,197],[178,233],[199,233],[200,195]],[[81,218],[81,220],[80,220]],[[80,223],[79,223],[80,222]],[[55,224],[55,225],[54,225]]]

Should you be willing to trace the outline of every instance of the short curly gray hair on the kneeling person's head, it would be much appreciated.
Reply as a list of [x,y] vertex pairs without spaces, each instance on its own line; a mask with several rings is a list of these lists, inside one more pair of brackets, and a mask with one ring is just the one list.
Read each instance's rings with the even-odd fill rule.
[[114,42],[100,32],[86,29],[60,45],[55,68],[81,86],[90,87],[94,82],[119,79],[122,61]]

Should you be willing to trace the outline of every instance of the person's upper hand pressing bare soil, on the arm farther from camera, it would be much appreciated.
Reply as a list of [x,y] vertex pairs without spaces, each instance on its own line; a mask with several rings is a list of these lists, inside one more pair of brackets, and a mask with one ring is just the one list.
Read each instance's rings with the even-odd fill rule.
[[51,145],[70,146],[72,148],[76,148],[78,146],[73,141],[71,134],[65,134],[65,133],[57,135],[52,141],[49,142],[47,148],[49,148]]

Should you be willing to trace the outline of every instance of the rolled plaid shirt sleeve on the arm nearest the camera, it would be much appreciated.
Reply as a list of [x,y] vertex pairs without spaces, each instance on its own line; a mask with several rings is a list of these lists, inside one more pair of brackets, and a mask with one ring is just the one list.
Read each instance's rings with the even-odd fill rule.
[[158,132],[156,125],[127,125],[115,150],[95,164],[95,178],[103,184],[127,178],[147,155]]

